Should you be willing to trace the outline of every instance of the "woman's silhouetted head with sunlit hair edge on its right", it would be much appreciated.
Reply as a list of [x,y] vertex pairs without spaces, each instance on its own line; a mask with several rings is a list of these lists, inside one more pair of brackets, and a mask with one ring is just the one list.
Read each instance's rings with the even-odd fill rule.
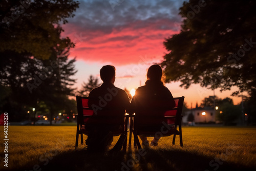
[[147,80],[165,82],[165,75],[159,65],[153,65],[147,70]]

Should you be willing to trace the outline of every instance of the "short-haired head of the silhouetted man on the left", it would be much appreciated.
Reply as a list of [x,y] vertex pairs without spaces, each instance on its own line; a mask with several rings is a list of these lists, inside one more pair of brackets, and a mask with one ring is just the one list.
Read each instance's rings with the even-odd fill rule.
[[115,82],[116,79],[116,68],[111,65],[103,66],[100,71],[100,78],[103,82]]

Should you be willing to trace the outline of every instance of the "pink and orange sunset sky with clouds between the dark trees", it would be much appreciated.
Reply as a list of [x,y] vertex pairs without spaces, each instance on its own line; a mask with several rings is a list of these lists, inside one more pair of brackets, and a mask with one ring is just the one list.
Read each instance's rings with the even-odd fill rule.
[[[76,44],[70,58],[76,57],[78,70],[76,87],[81,88],[89,75],[97,76],[103,65],[116,67],[115,86],[128,90],[143,86],[146,70],[153,63],[159,63],[167,51],[163,46],[165,38],[180,32],[182,18],[179,8],[183,1],[79,1],[75,17],[63,25],[65,32]],[[185,41],[185,40],[182,40]],[[184,47],[186,48],[186,47]],[[194,84],[189,89],[179,87],[180,82],[166,83],[174,97],[185,96],[190,108],[196,102],[214,95],[214,92]],[[220,98],[230,97],[231,91],[215,90]],[[234,104],[241,97],[234,98]]]

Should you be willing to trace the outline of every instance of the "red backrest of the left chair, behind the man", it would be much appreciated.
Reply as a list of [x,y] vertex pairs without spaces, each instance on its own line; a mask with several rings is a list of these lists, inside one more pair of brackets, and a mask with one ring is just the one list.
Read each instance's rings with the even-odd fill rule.
[[[77,102],[77,122],[84,123],[107,123],[107,124],[123,124],[124,112],[120,110],[120,106],[115,101],[110,101],[109,108],[100,108],[97,113],[88,105],[89,98],[76,96]],[[96,102],[97,100],[95,100]],[[111,107],[110,107],[111,106]]]

